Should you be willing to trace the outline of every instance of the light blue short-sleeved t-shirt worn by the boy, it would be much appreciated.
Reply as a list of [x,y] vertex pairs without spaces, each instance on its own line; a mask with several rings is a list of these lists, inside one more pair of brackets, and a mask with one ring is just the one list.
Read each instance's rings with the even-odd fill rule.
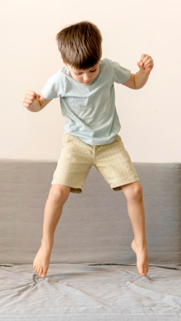
[[123,84],[130,75],[130,70],[118,63],[102,59],[97,77],[84,86],[64,67],[49,78],[42,94],[46,99],[59,97],[62,114],[67,118],[66,133],[89,145],[110,144],[120,130],[114,82]]

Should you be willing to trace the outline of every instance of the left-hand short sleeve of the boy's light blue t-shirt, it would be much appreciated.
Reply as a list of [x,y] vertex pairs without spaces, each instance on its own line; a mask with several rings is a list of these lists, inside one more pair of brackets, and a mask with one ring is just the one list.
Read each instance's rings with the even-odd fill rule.
[[46,99],[53,99],[63,95],[63,81],[61,71],[51,76],[42,89],[42,94]]

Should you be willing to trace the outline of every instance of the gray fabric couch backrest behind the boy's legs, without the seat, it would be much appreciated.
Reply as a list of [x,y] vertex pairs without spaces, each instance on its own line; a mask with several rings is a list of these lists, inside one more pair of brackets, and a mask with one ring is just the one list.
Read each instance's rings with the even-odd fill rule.
[[[144,190],[149,262],[181,264],[181,165],[134,164]],[[0,264],[31,264],[56,164],[0,161]],[[135,264],[122,191],[92,168],[82,194],[70,194],[55,233],[51,263]]]

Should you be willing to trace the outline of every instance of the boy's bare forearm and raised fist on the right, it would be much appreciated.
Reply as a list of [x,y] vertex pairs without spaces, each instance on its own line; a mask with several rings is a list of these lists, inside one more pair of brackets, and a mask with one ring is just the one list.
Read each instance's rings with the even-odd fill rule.
[[152,57],[147,54],[143,54],[140,57],[140,61],[137,63],[137,66],[139,67],[139,71],[135,74],[131,74],[129,80],[123,85],[132,89],[140,89],[145,86],[153,68]]

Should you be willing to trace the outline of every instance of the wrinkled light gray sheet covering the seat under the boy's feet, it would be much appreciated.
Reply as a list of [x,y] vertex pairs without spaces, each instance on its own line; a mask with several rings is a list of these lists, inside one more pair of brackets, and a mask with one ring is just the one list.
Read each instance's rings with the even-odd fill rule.
[[51,264],[45,279],[32,265],[0,271],[3,321],[181,319],[179,266],[151,266],[146,277],[123,265]]

